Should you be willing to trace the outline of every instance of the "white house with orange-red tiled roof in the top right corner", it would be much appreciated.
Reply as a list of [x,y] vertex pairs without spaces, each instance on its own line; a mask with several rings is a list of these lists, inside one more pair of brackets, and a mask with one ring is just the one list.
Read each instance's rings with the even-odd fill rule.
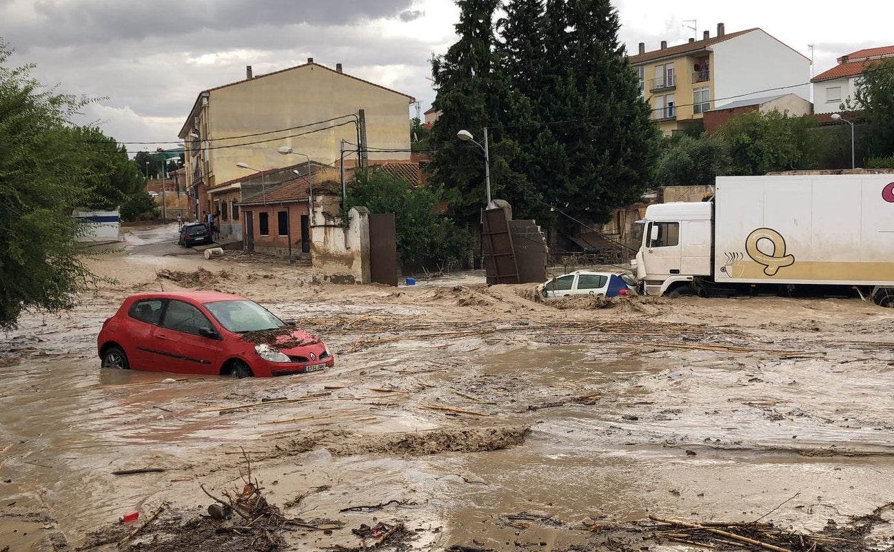
[[854,99],[856,82],[866,65],[886,57],[894,57],[894,46],[857,50],[842,55],[838,65],[810,79],[814,86],[814,113],[843,111],[841,104],[848,98]]

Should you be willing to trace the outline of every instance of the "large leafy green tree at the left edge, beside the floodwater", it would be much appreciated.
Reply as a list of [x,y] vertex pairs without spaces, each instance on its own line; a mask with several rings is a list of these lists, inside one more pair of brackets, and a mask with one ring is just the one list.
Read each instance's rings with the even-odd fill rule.
[[83,143],[70,118],[87,101],[58,94],[30,76],[32,65],[8,67],[0,40],[0,327],[23,310],[70,308],[95,281],[78,256],[72,208],[89,201]]

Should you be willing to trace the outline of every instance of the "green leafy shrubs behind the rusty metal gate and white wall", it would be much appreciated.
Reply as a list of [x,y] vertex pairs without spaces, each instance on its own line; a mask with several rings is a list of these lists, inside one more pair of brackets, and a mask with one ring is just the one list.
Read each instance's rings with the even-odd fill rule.
[[440,188],[412,187],[376,168],[358,170],[350,182],[346,208],[363,205],[370,213],[394,213],[397,250],[404,263],[437,263],[444,267],[460,259],[471,236],[452,220],[437,213]]

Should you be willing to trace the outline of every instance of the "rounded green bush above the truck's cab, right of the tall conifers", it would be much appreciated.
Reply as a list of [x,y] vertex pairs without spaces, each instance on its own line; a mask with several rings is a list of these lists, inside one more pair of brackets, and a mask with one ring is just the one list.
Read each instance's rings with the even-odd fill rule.
[[664,138],[655,181],[662,186],[713,185],[726,174],[730,157],[726,144],[707,134],[679,134]]

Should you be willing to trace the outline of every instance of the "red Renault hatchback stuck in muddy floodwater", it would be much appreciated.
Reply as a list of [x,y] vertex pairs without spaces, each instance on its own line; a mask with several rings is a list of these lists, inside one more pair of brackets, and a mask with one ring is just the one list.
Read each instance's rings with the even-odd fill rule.
[[103,322],[103,368],[283,376],[333,366],[325,344],[254,301],[215,291],[139,293]]

